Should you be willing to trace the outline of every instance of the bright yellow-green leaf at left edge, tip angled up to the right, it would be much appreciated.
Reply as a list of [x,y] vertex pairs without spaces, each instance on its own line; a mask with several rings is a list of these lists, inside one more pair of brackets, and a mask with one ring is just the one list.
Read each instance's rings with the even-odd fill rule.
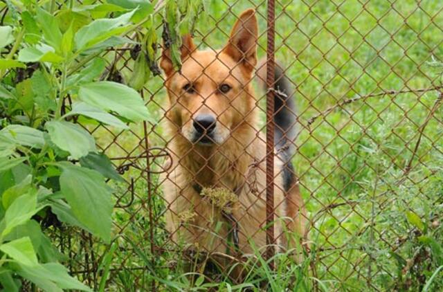
[[37,209],[37,192],[28,192],[21,195],[6,210],[5,217],[2,221],[4,229],[2,236],[8,235],[16,226],[26,223],[38,211]]

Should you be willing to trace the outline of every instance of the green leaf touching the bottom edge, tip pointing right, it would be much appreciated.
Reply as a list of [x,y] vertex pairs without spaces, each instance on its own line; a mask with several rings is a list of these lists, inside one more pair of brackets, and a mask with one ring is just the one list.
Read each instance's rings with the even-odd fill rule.
[[71,277],[66,268],[58,263],[37,264],[33,267],[20,265],[20,270],[17,273],[34,282],[44,291],[62,291],[62,289],[92,291]]

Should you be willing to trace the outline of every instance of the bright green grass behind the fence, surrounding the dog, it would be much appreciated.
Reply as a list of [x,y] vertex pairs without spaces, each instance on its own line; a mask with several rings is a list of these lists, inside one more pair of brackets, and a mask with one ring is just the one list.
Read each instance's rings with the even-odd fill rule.
[[[264,56],[264,1],[207,4],[208,11],[197,23],[201,48],[223,46],[239,12],[256,7],[262,33],[259,55]],[[320,291],[442,289],[437,272],[443,264],[438,225],[443,206],[443,111],[436,103],[438,92],[361,98],[440,85],[440,71],[430,64],[433,58],[443,58],[440,6],[433,0],[278,1],[276,57],[296,88],[300,131],[293,163],[313,221],[311,253],[299,264],[284,253],[275,255],[278,265],[271,271],[257,250],[257,262],[251,259],[254,268],[242,284],[224,275],[205,280],[199,268],[186,274],[180,246],[170,244],[164,230],[159,177],[150,176],[148,192],[146,174],[130,168],[125,178],[134,177],[135,197],[129,207],[114,213],[118,248],[109,253],[109,247],[97,247],[108,255],[102,267],[104,275],[110,275],[109,290],[149,290],[152,282],[160,291],[259,291],[263,283],[271,291],[311,291],[314,286]],[[123,74],[129,76],[127,70]],[[146,88],[148,107],[161,121],[161,78],[150,80]],[[322,116],[349,98],[361,99]],[[260,104],[264,107],[263,98]],[[140,125],[115,139],[117,133],[110,131],[96,131],[109,156],[143,152]],[[150,127],[148,134],[152,147],[167,141],[161,124]],[[160,158],[150,161],[153,170],[161,163]],[[146,166],[143,160],[138,164]],[[116,188],[120,204],[129,203],[130,192],[124,186]],[[408,212],[418,215],[426,228],[408,220]],[[109,257],[114,259],[111,269]]]

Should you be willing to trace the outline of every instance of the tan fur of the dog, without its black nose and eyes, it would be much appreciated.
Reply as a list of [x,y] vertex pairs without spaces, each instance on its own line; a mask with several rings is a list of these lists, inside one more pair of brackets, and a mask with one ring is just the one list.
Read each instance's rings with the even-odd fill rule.
[[[197,51],[192,39],[183,38],[181,72],[175,72],[168,50],[163,51],[161,66],[168,89],[168,149],[172,165],[163,176],[167,204],[166,225],[176,243],[188,244],[209,253],[228,250],[228,224],[221,210],[203,199],[192,185],[235,190],[244,185],[233,216],[239,223],[239,248],[243,254],[266,245],[266,145],[257,134],[257,101],[251,86],[256,60],[257,20],[254,10],[246,10],[233,28],[230,40],[220,51]],[[198,95],[189,96],[182,88],[194,82]],[[232,89],[217,92],[221,83]],[[192,119],[199,113],[217,116],[217,144],[191,143]],[[282,165],[275,158],[275,235],[277,243],[288,248],[282,230],[304,235],[304,204],[298,185],[287,193],[282,188]],[[183,222],[184,212],[195,213]],[[288,220],[281,218],[290,217]],[[280,218],[280,219],[279,219]],[[225,222],[216,230],[217,222]],[[284,227],[287,226],[287,227]],[[281,235],[281,236],[280,236]],[[194,248],[195,248],[194,247]],[[295,247],[295,246],[291,246]]]

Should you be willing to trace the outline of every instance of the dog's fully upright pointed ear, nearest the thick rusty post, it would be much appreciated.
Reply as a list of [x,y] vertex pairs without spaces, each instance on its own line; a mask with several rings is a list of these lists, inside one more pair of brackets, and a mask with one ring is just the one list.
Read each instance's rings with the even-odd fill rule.
[[246,69],[252,71],[257,64],[257,38],[257,18],[255,10],[251,8],[240,15],[230,32],[228,44],[223,51],[238,63],[242,62]]

